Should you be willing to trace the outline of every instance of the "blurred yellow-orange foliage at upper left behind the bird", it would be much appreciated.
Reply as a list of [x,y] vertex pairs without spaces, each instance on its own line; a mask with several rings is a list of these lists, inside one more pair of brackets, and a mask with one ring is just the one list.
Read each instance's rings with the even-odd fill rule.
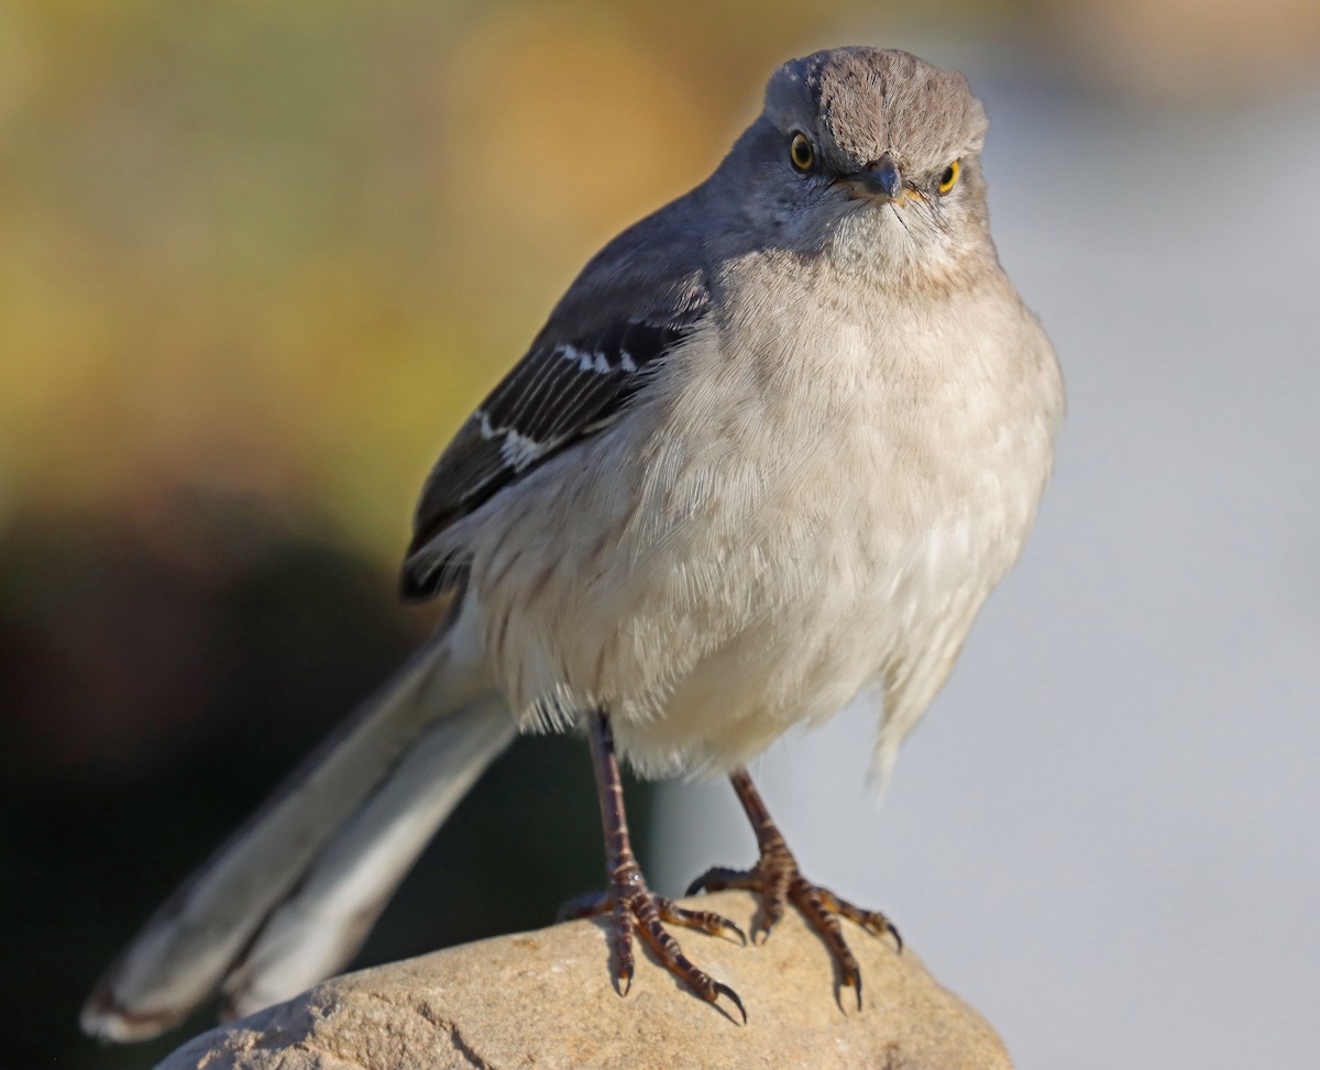
[[[3,9],[0,522],[201,486],[392,558],[426,467],[577,268],[754,111],[770,61],[742,84],[705,62],[717,41],[672,54],[684,7],[702,24],[709,5]],[[759,50],[808,7],[759,20]]]

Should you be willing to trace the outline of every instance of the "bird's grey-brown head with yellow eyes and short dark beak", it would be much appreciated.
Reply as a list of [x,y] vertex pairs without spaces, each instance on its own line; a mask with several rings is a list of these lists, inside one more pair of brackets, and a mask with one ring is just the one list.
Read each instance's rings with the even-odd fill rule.
[[957,71],[892,49],[834,49],[775,71],[721,170],[772,247],[890,277],[957,273],[994,255],[985,132]]

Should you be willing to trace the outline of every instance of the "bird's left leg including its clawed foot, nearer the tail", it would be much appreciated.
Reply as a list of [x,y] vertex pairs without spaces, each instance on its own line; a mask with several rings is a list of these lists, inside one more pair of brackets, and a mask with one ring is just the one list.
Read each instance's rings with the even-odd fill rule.
[[657,896],[647,887],[642,867],[638,865],[638,860],[632,855],[628,822],[623,813],[623,778],[619,774],[619,759],[614,753],[614,732],[603,711],[591,714],[589,736],[591,763],[595,768],[595,788],[601,800],[601,822],[605,826],[605,854],[610,872],[610,887],[603,895],[582,896],[566,904],[560,910],[560,917],[612,914],[615,983],[619,986],[620,995],[627,995],[632,986],[632,929],[636,926],[642,938],[669,972],[708,1003],[715,1003],[721,995],[729,996],[746,1023],[747,1012],[743,1009],[738,993],[727,984],[714,980],[697,968],[682,954],[678,941],[665,931],[664,922],[701,929],[714,935],[734,934],[743,943],[747,942],[747,938],[742,929],[729,918],[710,910],[686,910],[673,900]]

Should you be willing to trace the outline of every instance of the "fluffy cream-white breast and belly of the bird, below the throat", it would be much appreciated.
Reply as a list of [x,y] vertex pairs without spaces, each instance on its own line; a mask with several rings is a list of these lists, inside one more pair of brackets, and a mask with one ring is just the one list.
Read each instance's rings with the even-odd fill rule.
[[906,734],[1022,549],[1056,372],[1038,329],[937,339],[953,363],[886,329],[841,315],[814,363],[789,326],[698,336],[490,512],[471,592],[524,726],[605,706],[649,774],[737,767],[867,687]]

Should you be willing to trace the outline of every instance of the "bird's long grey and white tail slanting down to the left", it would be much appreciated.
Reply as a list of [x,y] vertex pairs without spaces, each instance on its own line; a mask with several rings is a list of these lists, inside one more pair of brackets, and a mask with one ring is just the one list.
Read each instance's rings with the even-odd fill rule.
[[421,650],[147,922],[82,1012],[115,1041],[223,991],[239,1013],[345,966],[436,829],[513,739],[442,639]]

